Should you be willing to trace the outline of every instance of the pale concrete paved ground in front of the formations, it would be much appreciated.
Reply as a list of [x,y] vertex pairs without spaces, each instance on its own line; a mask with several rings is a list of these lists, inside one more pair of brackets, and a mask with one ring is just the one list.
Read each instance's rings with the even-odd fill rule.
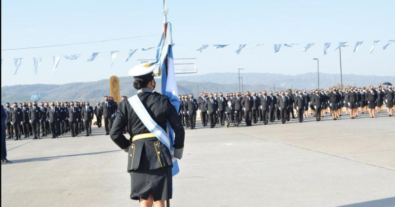
[[[127,154],[94,137],[7,140],[5,207],[138,206]],[[173,207],[395,206],[395,118],[186,130]]]

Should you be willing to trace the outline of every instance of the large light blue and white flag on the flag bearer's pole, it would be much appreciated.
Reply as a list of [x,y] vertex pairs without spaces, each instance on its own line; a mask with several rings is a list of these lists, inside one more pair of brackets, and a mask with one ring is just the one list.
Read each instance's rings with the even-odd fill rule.
[[[164,38],[164,34],[159,42],[157,49],[157,61],[159,62],[159,70],[162,72],[161,82],[162,95],[166,95],[171,104],[174,105],[176,111],[180,108],[180,102],[178,101],[178,92],[177,92],[177,82],[176,75],[174,71],[174,62],[173,62],[173,38],[171,35],[171,24],[168,22],[167,30],[166,30],[166,38]],[[167,67],[165,64],[165,60],[167,58]],[[170,153],[173,161],[172,175],[176,175],[180,172],[178,167],[177,159],[174,158],[174,130],[171,128],[170,122],[167,121],[167,134],[170,138]]]

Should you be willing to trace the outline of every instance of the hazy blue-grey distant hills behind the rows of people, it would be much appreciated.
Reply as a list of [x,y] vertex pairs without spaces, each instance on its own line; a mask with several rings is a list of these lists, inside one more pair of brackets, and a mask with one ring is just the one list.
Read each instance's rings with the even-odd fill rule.
[[[283,75],[274,73],[241,73],[244,91],[313,89],[317,87],[317,74],[306,73],[300,75]],[[340,74],[319,74],[319,85],[328,88],[340,83]],[[237,92],[237,73],[209,73],[204,75],[177,76],[179,94],[194,94],[196,97],[201,91],[206,92]],[[132,96],[136,90],[132,86],[131,77],[119,77],[120,94]],[[343,85],[367,86],[378,83],[395,83],[395,76],[374,75],[343,75]],[[273,85],[275,84],[275,85]],[[157,89],[160,90],[160,79],[157,80]],[[1,87],[1,104],[6,102],[28,102],[33,94],[40,95],[40,101],[102,101],[104,95],[110,91],[109,80],[103,79],[94,82],[76,82],[62,85],[33,84]]]

